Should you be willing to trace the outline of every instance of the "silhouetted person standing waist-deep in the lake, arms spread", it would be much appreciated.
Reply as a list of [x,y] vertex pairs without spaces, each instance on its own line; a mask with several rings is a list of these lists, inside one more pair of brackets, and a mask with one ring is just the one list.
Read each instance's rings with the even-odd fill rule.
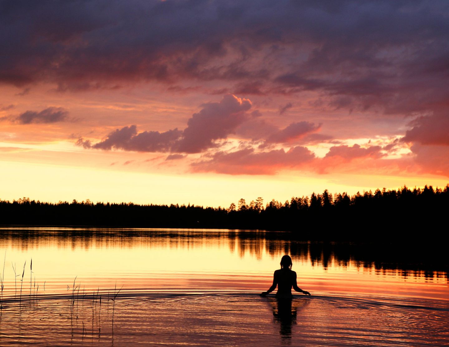
[[273,285],[271,285],[266,292],[260,293],[260,296],[265,296],[271,293],[276,286],[276,298],[293,298],[293,295],[291,294],[292,287],[299,293],[310,295],[309,292],[298,287],[298,284],[296,283],[296,272],[291,270],[291,266],[292,262],[290,256],[284,255],[281,259],[281,268],[274,271]]

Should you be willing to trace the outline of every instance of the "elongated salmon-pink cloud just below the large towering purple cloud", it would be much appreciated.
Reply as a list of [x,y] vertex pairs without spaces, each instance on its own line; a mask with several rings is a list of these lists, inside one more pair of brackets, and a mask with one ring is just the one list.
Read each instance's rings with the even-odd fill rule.
[[210,159],[192,164],[194,171],[212,171],[227,174],[274,174],[286,168],[298,168],[315,158],[313,152],[305,147],[292,147],[267,152],[255,152],[253,148],[240,151],[220,151]]

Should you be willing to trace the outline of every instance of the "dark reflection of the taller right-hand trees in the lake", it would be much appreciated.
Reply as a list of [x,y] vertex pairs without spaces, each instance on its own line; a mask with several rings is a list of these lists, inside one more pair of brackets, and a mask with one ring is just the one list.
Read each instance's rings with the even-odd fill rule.
[[[256,249],[252,255],[260,257],[260,252],[266,252],[273,257],[290,254],[301,261],[310,261],[312,266],[323,267],[330,264],[339,267],[349,265],[374,269],[376,273],[395,271],[401,276],[448,277],[448,259],[443,249],[444,245],[429,245],[425,241],[416,243],[379,242],[303,242],[290,240],[290,233],[248,232],[240,231],[229,234],[235,239],[239,254]],[[251,241],[252,240],[252,241]],[[254,242],[253,248],[248,245]],[[264,245],[264,247],[260,247]],[[262,249],[262,250],[261,250]],[[257,253],[256,253],[257,252]]]

